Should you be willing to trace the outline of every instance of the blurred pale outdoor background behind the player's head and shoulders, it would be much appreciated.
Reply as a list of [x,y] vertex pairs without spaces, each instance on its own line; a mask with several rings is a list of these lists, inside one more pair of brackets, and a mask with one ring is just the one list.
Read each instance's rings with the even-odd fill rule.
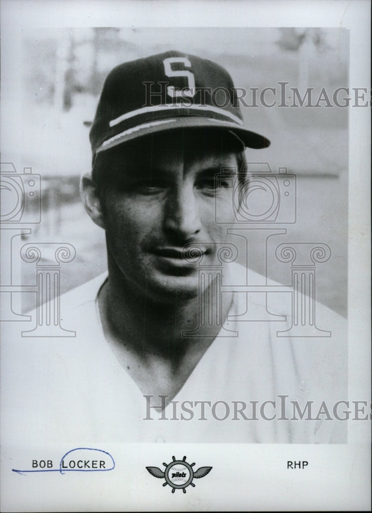
[[[28,30],[23,38],[21,143],[3,151],[2,162],[18,162],[42,176],[42,222],[27,242],[69,242],[76,258],[62,268],[62,292],[106,269],[104,232],[80,203],[80,175],[90,170],[89,124],[107,73],[125,61],[177,49],[216,61],[236,87],[277,88],[288,82],[316,103],[322,88],[331,97],[348,86],[348,32],[339,29],[92,28]],[[250,96],[246,98],[251,102]],[[11,98],[10,98],[11,101]],[[14,97],[14,102],[19,98]],[[267,94],[267,101],[271,96]],[[297,221],[280,225],[282,242],[324,242],[332,251],[317,269],[317,299],[347,313],[348,116],[339,107],[244,107],[245,126],[271,140],[265,150],[247,151],[248,162],[286,167],[297,176]],[[22,172],[22,169],[18,172]],[[274,226],[274,225],[273,225]],[[266,226],[267,227],[267,226]],[[249,239],[249,266],[264,272],[261,242]],[[271,243],[270,243],[271,244]],[[270,248],[269,248],[270,249]],[[271,253],[270,253],[271,254]],[[270,256],[270,255],[269,255]],[[272,256],[272,255],[271,255]],[[270,257],[271,258],[271,257]],[[270,278],[290,283],[288,265],[268,259]],[[34,264],[23,264],[23,283],[35,280]],[[23,294],[23,310],[35,304]]]

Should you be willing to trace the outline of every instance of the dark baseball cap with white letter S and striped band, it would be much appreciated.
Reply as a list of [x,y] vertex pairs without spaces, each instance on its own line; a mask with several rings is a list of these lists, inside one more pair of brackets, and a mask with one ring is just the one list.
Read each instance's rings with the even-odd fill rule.
[[136,137],[178,128],[226,129],[245,147],[270,145],[243,126],[237,90],[222,66],[172,50],[108,74],[89,133],[93,158]]

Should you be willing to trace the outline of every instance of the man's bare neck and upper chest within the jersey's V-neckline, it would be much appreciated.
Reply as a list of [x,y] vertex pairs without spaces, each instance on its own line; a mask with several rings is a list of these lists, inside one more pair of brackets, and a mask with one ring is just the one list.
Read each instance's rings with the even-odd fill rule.
[[[110,277],[99,294],[99,308],[106,339],[121,365],[143,393],[166,394],[168,401],[182,388],[203,354],[217,337],[226,319],[232,296],[224,294],[219,319],[208,319],[200,305],[216,305],[217,289],[203,298],[177,297],[155,302],[133,293],[122,280]],[[229,297],[227,297],[229,296]],[[205,300],[205,301],[204,301]],[[212,322],[211,322],[212,321]],[[185,337],[192,331],[193,337]]]

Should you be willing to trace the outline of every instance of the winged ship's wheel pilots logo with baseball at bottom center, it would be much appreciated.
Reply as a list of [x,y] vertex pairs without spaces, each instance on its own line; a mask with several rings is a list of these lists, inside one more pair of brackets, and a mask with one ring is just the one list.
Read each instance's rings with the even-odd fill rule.
[[172,460],[173,461],[168,464],[163,463],[165,466],[164,472],[158,467],[146,467],[151,476],[165,479],[163,486],[167,486],[167,484],[171,486],[172,494],[174,494],[176,488],[182,488],[184,494],[186,494],[185,488],[187,488],[187,486],[195,486],[192,482],[194,478],[203,478],[212,469],[212,467],[200,467],[194,472],[192,467],[195,463],[191,463],[191,465],[187,463],[186,456],[184,456],[182,460],[176,460],[173,456]]

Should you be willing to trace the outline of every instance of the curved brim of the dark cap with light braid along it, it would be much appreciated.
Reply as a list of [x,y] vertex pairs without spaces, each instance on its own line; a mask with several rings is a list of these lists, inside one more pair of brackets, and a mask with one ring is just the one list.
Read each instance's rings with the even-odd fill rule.
[[135,127],[129,128],[118,133],[105,141],[97,148],[96,153],[109,150],[119,144],[126,143],[137,137],[149,135],[152,133],[165,132],[177,128],[221,128],[226,129],[237,135],[246,148],[262,149],[270,146],[270,141],[263,135],[251,132],[244,127],[240,127],[237,123],[228,121],[215,120],[206,117],[182,116],[171,119],[163,119],[143,123]]

